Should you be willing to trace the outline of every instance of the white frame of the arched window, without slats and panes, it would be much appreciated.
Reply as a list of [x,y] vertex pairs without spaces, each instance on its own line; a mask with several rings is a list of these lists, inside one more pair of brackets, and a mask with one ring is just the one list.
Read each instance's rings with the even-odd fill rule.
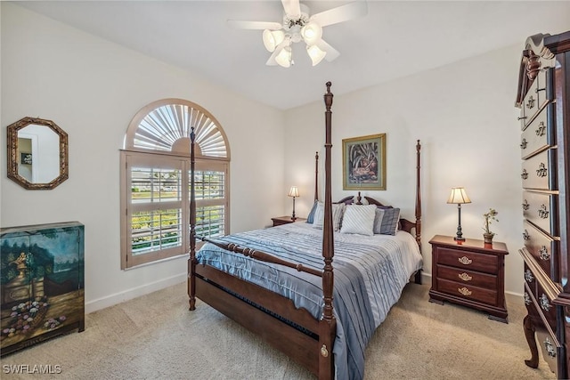
[[[149,112],[161,106],[171,104],[188,106],[189,113],[187,118],[191,119],[196,124],[204,124],[203,120],[207,120],[207,125],[203,130],[208,133],[202,133],[204,138],[203,146],[200,146],[200,141],[196,141],[196,171],[215,171],[224,172],[223,194],[224,197],[209,198],[209,199],[196,199],[196,208],[199,211],[200,207],[204,206],[223,206],[224,234],[230,233],[230,158],[229,158],[229,144],[225,137],[224,131],[217,123],[216,119],[212,117],[208,111],[202,109],[198,105],[190,101],[183,101],[179,99],[165,99],[162,101],[155,101],[145,108],[141,109],[133,118],[129,125],[125,139],[125,150],[120,151],[120,224],[121,224],[121,269],[134,268],[143,264],[156,263],[162,260],[187,255],[190,250],[190,139],[186,136],[181,136],[178,140],[174,141],[171,145],[171,151],[165,151],[164,144],[160,146],[160,150],[152,150],[147,147],[141,148],[135,146],[134,138],[137,133],[142,119],[146,117]],[[196,116],[198,115],[198,116]],[[188,126],[188,125],[186,125]],[[193,126],[193,125],[191,125]],[[183,128],[180,128],[183,129]],[[186,127],[186,129],[188,129]],[[197,128],[199,131],[199,127]],[[212,130],[219,136],[216,140],[215,157],[208,157],[202,155],[202,151],[208,152],[208,141],[211,140]],[[199,133],[197,133],[199,134]],[[224,144],[223,154],[226,157],[220,157],[220,150],[218,147]],[[160,141],[162,142],[162,141]],[[203,148],[203,150],[201,149]],[[207,153],[208,154],[208,153]],[[134,167],[156,168],[156,169],[175,169],[180,170],[180,194],[179,199],[167,200],[160,202],[136,202],[132,201],[132,169]],[[133,252],[133,214],[144,211],[159,211],[159,210],[180,210],[180,217],[182,218],[182,239],[180,244],[175,247],[155,247],[147,252]],[[197,230],[199,226],[197,225]],[[199,245],[198,245],[199,247]]]

